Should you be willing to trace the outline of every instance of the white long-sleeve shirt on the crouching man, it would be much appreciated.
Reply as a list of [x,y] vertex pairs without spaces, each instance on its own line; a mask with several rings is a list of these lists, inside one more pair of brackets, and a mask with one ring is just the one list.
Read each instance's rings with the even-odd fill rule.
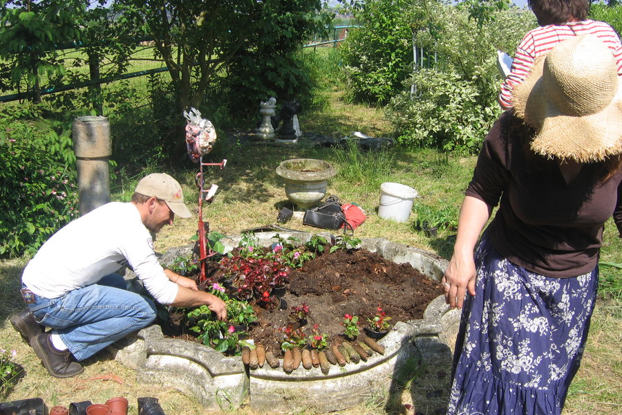
[[33,293],[57,298],[129,266],[161,304],[171,304],[178,286],[164,275],[153,241],[133,203],[112,202],[68,223],[30,260],[22,282]]

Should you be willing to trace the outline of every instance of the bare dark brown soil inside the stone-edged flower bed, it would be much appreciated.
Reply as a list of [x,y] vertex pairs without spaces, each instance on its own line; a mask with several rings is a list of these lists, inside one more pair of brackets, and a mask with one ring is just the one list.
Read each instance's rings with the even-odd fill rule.
[[[216,266],[216,264],[213,264]],[[214,273],[214,268],[210,265]],[[218,273],[216,272],[216,277]],[[410,264],[395,264],[381,255],[367,250],[338,250],[307,261],[303,268],[292,270],[283,299],[288,304],[284,310],[266,310],[254,306],[258,322],[249,326],[249,338],[263,344],[275,356],[281,355],[283,333],[288,324],[292,306],[308,304],[310,313],[303,326],[307,336],[314,324],[321,333],[328,333],[332,341],[341,342],[343,315],[359,316],[359,328],[367,317],[373,317],[381,306],[390,323],[420,319],[428,304],[442,293],[438,282],[420,274]],[[180,327],[181,313],[171,314],[171,324],[163,327],[169,337],[195,340]]]

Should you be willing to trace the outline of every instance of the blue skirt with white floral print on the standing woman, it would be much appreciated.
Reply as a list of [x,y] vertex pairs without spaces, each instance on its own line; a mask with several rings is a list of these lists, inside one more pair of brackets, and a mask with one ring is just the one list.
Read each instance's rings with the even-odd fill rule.
[[455,347],[448,415],[559,415],[581,363],[598,267],[574,278],[531,273],[483,237]]

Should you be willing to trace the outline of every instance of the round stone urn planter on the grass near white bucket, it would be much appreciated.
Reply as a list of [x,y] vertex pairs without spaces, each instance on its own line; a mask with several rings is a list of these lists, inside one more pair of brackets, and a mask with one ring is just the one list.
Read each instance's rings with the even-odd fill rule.
[[314,158],[292,158],[276,167],[276,174],[285,181],[285,194],[299,210],[306,210],[326,195],[328,179],[336,172],[327,161]]

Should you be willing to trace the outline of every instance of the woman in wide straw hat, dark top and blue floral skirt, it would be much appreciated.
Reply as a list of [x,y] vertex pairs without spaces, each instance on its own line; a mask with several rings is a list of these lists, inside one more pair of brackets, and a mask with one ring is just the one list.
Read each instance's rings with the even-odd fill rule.
[[[603,224],[622,232],[622,82],[577,36],[540,59],[484,140],[443,278],[462,308],[448,414],[560,414],[598,287]],[[494,219],[478,236],[492,209]]]

